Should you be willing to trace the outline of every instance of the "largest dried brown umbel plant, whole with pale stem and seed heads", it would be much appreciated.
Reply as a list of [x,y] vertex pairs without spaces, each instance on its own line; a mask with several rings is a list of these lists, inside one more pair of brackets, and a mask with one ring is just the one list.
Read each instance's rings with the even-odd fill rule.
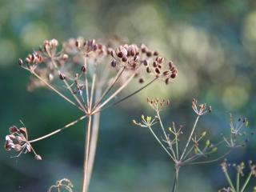
[[[28,54],[24,60],[20,58],[18,64],[31,74],[28,90],[46,87],[82,111],[82,116],[50,134],[34,139],[28,139],[23,128],[11,128],[6,136],[6,150],[16,150],[18,156],[22,152],[34,152],[32,143],[58,134],[86,118],[82,179],[82,192],[86,192],[94,165],[100,112],[130,98],[156,80],[169,84],[178,74],[173,62],[166,62],[158,51],[150,50],[144,44],[120,44],[117,40],[102,43],[94,39],[70,38],[59,46],[58,41],[52,39],[43,42],[39,50]],[[144,79],[150,80],[145,82]],[[133,80],[142,86],[117,100],[116,96]],[[35,152],[34,155],[36,159],[42,159]]]

